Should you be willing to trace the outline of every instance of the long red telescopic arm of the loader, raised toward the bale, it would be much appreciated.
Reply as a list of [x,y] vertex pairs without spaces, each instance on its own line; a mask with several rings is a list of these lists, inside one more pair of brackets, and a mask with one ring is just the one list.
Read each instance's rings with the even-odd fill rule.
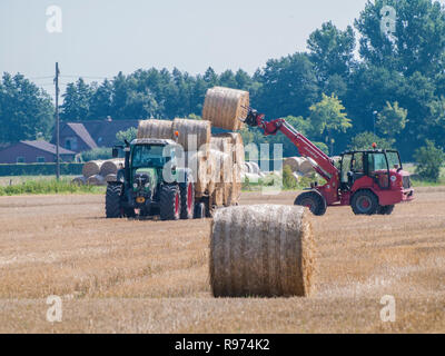
[[266,121],[264,113],[258,113],[256,110],[249,109],[245,123],[261,128],[265,136],[276,135],[278,131],[283,132],[294,142],[303,157],[310,158],[313,165],[315,162],[314,169],[328,185],[332,185],[333,190],[335,191],[335,188],[338,189],[338,169],[335,167],[334,161],[308,138],[298,132],[290,123],[286,122],[285,119]]

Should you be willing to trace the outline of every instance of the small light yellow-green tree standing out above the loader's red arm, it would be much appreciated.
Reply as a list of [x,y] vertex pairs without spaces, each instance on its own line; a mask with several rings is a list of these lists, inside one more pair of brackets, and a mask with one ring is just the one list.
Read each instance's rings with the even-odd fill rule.
[[322,101],[310,107],[310,122],[318,134],[326,134],[327,142],[330,145],[330,155],[334,155],[334,132],[346,132],[352,128],[345,107],[335,95],[330,97],[323,95]]

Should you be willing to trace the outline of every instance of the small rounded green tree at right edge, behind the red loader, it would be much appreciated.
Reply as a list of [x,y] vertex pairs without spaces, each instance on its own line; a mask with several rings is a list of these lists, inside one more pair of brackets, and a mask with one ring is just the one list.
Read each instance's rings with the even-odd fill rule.
[[416,149],[414,158],[417,162],[416,172],[421,178],[438,181],[441,167],[445,162],[443,149],[436,147],[434,141],[426,140],[426,146]]

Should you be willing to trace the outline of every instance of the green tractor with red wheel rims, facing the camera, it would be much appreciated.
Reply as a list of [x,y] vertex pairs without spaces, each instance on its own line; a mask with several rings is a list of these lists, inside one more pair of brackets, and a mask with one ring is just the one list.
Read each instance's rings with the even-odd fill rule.
[[[206,202],[195,200],[189,168],[178,167],[182,148],[167,139],[126,141],[125,168],[108,184],[107,218],[151,217],[178,220],[206,217]],[[119,148],[112,150],[116,158]]]

